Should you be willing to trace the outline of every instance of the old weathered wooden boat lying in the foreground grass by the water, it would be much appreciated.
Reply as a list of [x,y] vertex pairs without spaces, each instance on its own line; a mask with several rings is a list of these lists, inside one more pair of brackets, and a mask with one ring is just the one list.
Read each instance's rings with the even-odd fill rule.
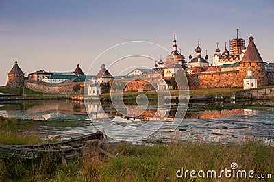
[[61,157],[62,163],[66,164],[67,159],[73,159],[79,155],[95,155],[98,149],[101,149],[104,141],[105,135],[101,132],[96,132],[46,144],[0,145],[0,157],[40,160],[46,155],[55,155]]

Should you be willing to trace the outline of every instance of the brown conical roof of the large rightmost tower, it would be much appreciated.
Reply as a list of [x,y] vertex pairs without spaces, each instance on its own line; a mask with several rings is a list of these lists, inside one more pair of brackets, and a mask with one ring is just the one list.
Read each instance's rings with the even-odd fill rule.
[[249,44],[244,57],[242,57],[242,62],[263,62],[252,36],[249,37]]

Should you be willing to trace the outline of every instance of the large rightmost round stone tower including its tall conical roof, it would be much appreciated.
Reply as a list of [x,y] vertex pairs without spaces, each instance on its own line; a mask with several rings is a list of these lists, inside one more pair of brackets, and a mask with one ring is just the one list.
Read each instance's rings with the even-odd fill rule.
[[[245,55],[242,57],[242,61],[240,62],[239,75],[241,80],[245,78],[249,68],[252,69],[253,76],[258,79],[258,86],[264,86],[267,84],[264,62],[254,44],[254,38],[252,36],[249,37],[247,51],[245,51]],[[241,86],[243,86],[243,82],[241,83]]]

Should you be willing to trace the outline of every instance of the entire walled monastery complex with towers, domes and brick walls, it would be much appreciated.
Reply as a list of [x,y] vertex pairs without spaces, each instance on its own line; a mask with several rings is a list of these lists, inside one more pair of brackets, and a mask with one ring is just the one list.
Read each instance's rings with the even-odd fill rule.
[[[97,75],[85,75],[77,64],[74,71],[66,73],[47,72],[37,70],[24,77],[17,60],[8,73],[7,86],[25,86],[36,92],[45,93],[75,93],[73,86],[79,85],[80,90],[88,95],[99,95],[114,91],[138,90],[169,90],[173,89],[171,79],[178,70],[183,70],[188,78],[190,88],[221,88],[243,87],[256,88],[267,84],[274,84],[274,64],[262,60],[253,36],[249,37],[248,46],[245,39],[237,37],[229,41],[229,50],[221,53],[217,44],[212,63],[206,56],[202,57],[202,49],[197,44],[195,55],[186,57],[177,50],[176,34],[173,36],[173,49],[163,61],[162,57],[151,69],[135,68],[124,76],[112,76],[102,64]],[[116,80],[116,81],[114,81]],[[85,84],[86,81],[86,84]]]

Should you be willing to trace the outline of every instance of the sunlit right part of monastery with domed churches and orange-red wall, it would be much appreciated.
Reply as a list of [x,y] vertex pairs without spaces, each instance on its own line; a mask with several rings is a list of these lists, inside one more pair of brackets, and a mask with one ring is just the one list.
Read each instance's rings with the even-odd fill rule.
[[184,55],[177,51],[174,33],[173,50],[166,56],[166,61],[163,62],[160,59],[158,64],[155,64],[153,73],[149,70],[135,69],[133,72],[138,73],[135,79],[124,77],[123,80],[127,80],[125,91],[149,90],[151,87],[148,85],[151,83],[157,84],[156,87],[153,86],[154,88],[172,89],[171,78],[178,70],[184,70],[190,88],[243,87],[247,89],[274,84],[274,64],[263,62],[253,36],[249,37],[246,48],[245,40],[238,38],[237,30],[237,37],[230,40],[229,44],[230,51],[227,50],[225,43],[223,53],[217,44],[212,64],[210,64],[207,53],[205,57],[201,56],[202,49],[198,42],[195,57],[190,54],[187,62]]

